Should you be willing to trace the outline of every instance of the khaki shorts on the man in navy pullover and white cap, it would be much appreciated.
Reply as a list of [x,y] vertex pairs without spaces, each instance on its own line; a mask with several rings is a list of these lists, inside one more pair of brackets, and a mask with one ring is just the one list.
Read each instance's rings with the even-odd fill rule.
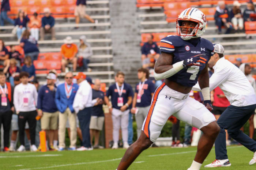
[[56,130],[58,129],[58,118],[59,112],[43,112],[43,116],[41,118],[41,129],[44,130]]

